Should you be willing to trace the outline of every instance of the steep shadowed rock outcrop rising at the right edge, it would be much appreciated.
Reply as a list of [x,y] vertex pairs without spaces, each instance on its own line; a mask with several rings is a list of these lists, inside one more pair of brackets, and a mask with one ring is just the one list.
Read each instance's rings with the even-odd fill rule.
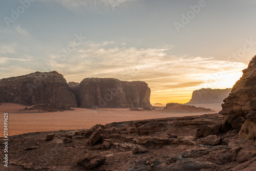
[[222,131],[240,128],[246,119],[256,121],[256,55],[251,59],[243,76],[233,86],[231,94],[224,99]]

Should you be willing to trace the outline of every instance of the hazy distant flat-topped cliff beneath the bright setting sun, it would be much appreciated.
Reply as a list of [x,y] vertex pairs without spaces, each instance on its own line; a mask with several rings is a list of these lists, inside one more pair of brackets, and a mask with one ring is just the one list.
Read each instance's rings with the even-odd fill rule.
[[231,89],[200,89],[192,94],[191,100],[186,104],[222,103]]

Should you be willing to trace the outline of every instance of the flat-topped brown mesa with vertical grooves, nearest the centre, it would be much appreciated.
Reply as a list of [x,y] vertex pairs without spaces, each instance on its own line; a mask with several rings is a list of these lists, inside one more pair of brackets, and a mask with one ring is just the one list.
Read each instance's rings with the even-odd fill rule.
[[86,78],[79,84],[81,108],[151,107],[147,83],[120,81],[115,78]]

